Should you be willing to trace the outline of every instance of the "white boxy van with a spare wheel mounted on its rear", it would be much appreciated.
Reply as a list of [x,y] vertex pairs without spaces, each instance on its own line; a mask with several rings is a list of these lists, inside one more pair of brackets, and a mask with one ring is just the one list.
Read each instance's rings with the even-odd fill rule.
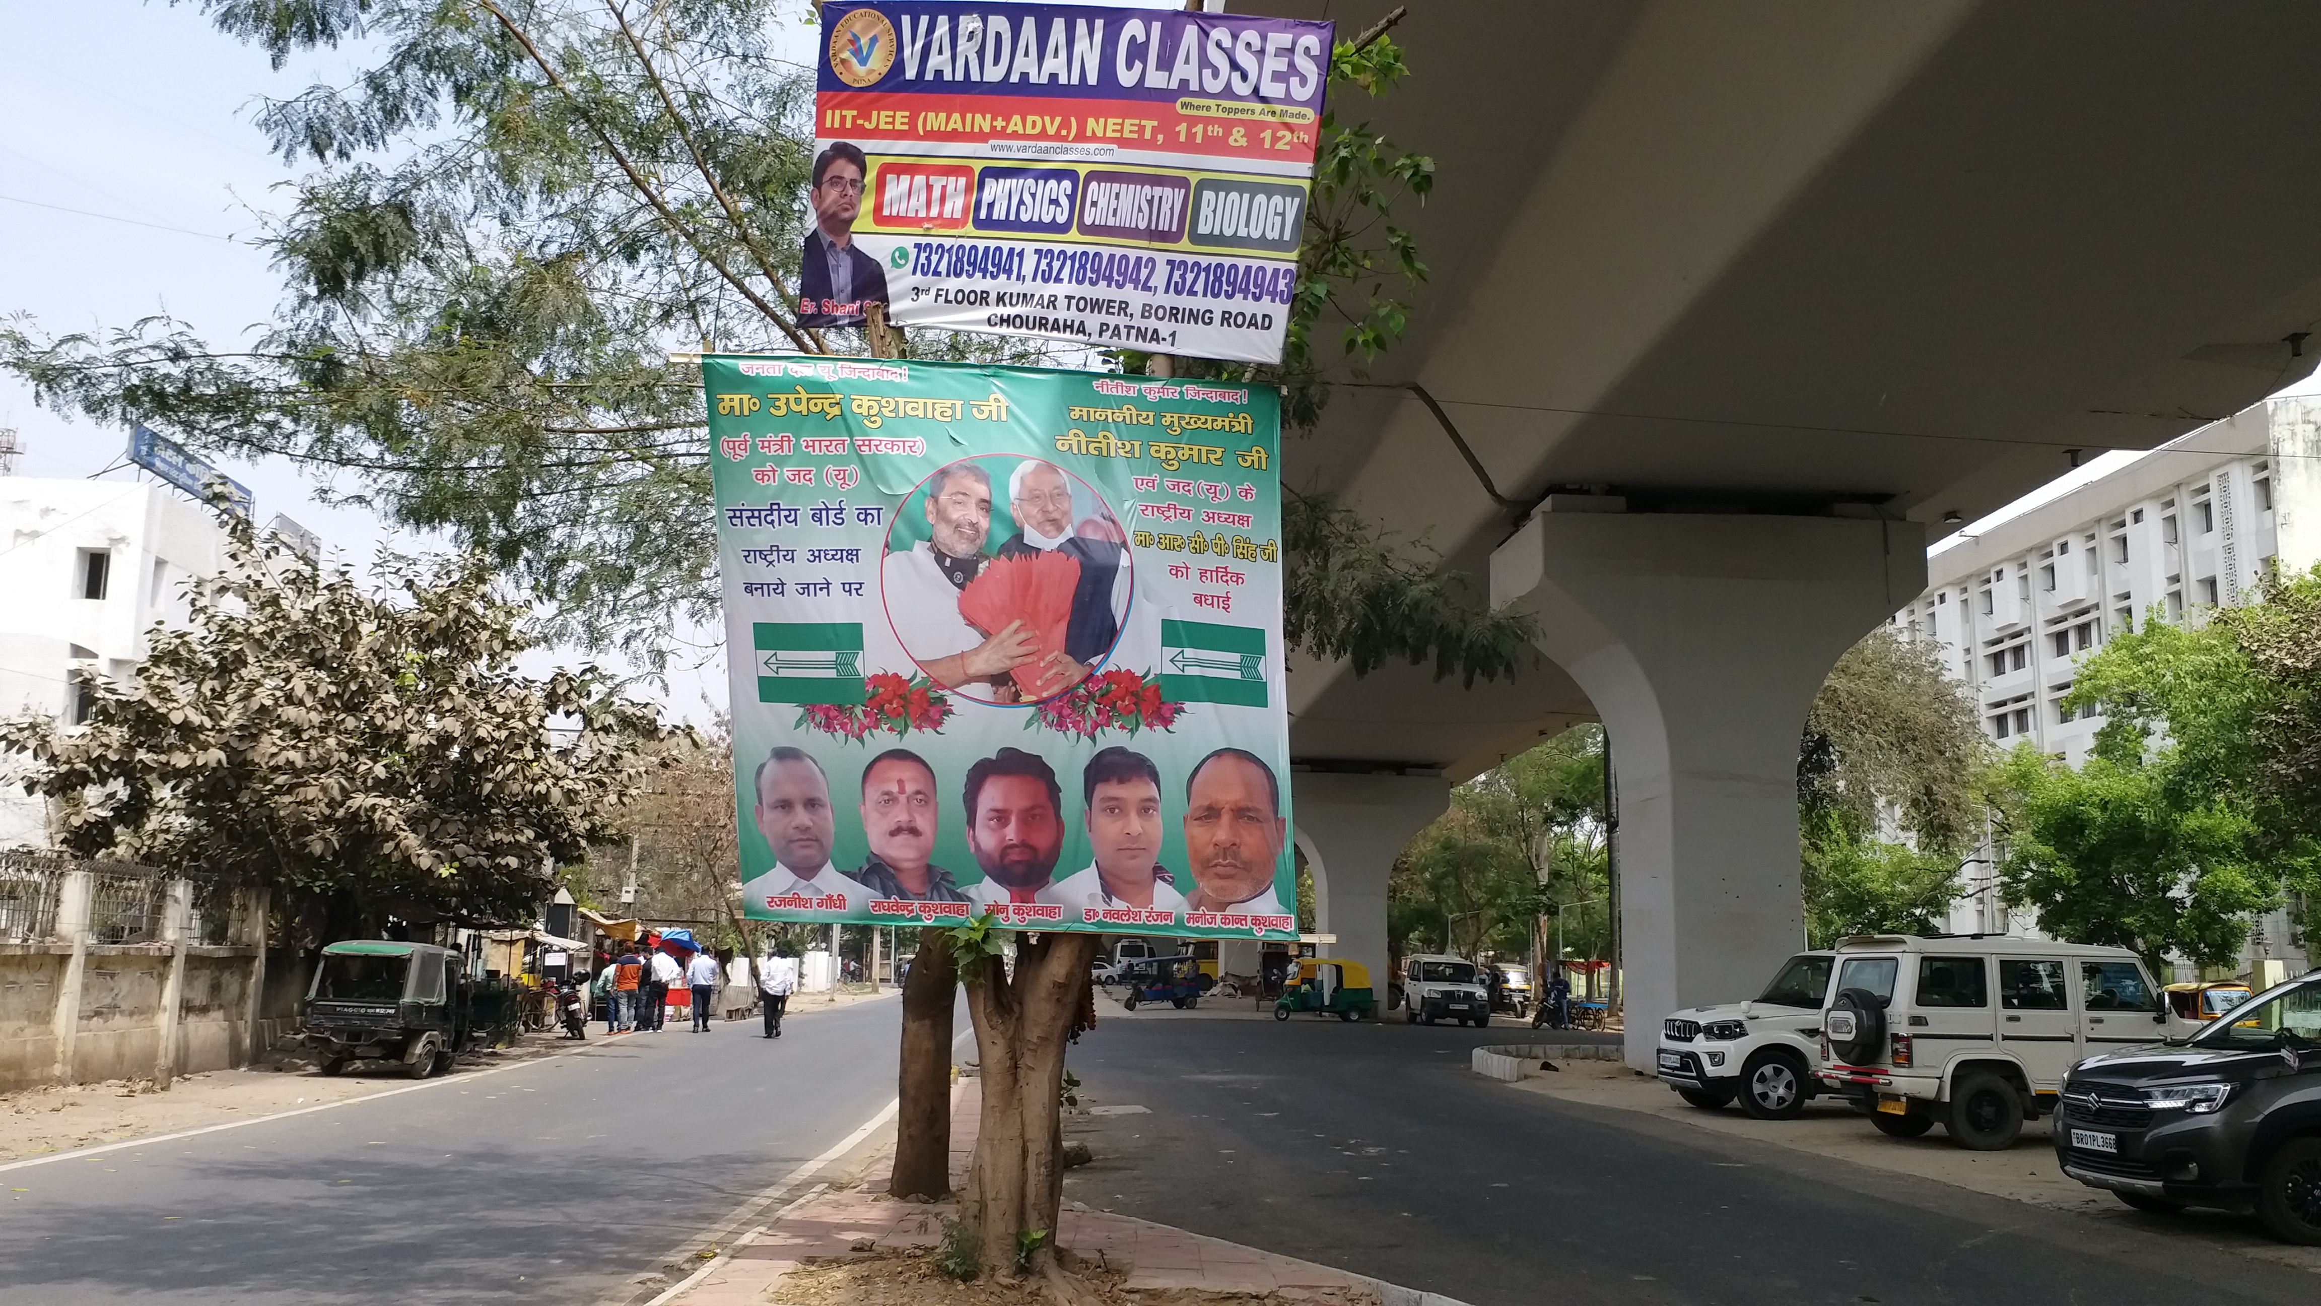
[[1841,939],[1815,1076],[1882,1134],[1973,1150],[2052,1113],[2080,1057],[2152,1043],[2165,1006],[2126,948],[2001,934]]

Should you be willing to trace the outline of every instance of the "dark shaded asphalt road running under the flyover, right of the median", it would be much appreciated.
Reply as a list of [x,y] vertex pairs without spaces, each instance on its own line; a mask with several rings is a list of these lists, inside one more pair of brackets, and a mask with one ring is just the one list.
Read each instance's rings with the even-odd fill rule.
[[[1467,1069],[1516,1029],[1137,1020],[1072,1048],[1065,1199],[1476,1306],[2321,1301],[2321,1278]],[[2045,1157],[2040,1157],[2045,1160]],[[2052,1162],[2049,1162],[2052,1164]]]

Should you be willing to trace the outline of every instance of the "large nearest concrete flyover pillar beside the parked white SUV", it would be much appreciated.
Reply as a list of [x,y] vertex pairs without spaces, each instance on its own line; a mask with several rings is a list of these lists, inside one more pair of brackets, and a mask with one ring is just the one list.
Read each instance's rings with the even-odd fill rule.
[[1588,693],[1613,748],[1627,1064],[1660,1020],[1755,997],[1803,943],[1796,746],[1829,667],[1926,583],[1908,521],[1543,511],[1495,604]]

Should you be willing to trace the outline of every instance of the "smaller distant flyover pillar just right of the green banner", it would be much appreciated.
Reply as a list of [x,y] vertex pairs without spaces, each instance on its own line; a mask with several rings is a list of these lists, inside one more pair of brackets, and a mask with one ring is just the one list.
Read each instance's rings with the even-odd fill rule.
[[1290,776],[1297,848],[1314,874],[1314,932],[1321,948],[1369,967],[1386,1016],[1386,874],[1404,844],[1451,806],[1441,776],[1297,772]]

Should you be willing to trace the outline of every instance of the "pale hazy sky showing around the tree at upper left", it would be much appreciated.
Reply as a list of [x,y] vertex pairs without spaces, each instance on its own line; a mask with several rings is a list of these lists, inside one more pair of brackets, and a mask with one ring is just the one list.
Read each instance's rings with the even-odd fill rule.
[[[815,33],[801,21],[789,42],[808,58]],[[0,316],[30,314],[44,332],[104,332],[167,314],[214,344],[258,339],[281,279],[248,239],[260,214],[285,207],[279,186],[311,165],[267,151],[255,105],[344,84],[353,67],[332,51],[274,72],[265,51],[218,35],[190,2],[0,0]],[[7,376],[0,428],[16,428],[26,449],[19,476],[142,476],[121,467],[125,430],[39,409]],[[288,460],[218,469],[255,493],[258,521],[285,514],[355,567],[388,541],[404,553],[448,546],[397,534],[367,509],[323,504],[320,481]],[[726,702],[722,627],[680,639],[666,693],[641,693],[706,725]],[[525,669],[587,660],[599,658],[550,648],[527,655]],[[601,662],[627,672],[615,658]]]

